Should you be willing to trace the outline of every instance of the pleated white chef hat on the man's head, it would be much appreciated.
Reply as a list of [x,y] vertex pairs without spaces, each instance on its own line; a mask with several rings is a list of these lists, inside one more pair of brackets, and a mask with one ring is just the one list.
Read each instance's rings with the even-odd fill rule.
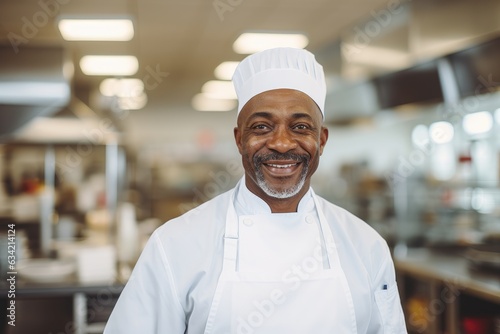
[[307,94],[325,115],[326,82],[323,66],[304,49],[274,48],[252,54],[236,68],[233,84],[238,113],[255,95],[288,88]]

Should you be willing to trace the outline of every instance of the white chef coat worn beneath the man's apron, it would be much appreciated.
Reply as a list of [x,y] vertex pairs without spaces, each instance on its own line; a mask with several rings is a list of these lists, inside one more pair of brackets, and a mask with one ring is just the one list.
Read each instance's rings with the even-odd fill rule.
[[[202,334],[222,270],[229,199],[238,215],[270,213],[239,185],[158,228],[108,320],[105,334]],[[310,190],[298,212],[310,205]],[[358,333],[406,333],[389,248],[369,225],[318,196],[352,294]],[[294,333],[290,329],[287,333]]]

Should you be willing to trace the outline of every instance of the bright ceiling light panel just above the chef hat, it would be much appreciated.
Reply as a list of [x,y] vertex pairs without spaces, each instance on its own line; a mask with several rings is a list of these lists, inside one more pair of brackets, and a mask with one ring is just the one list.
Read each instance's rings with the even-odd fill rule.
[[309,43],[303,34],[292,33],[243,33],[233,44],[239,54],[251,54],[274,47],[305,48]]

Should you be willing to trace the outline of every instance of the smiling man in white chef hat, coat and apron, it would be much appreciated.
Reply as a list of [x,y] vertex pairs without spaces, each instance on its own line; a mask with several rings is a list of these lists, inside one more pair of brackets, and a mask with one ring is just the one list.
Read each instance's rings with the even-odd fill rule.
[[310,188],[321,65],[276,48],[233,82],[244,177],[152,235],[105,333],[406,333],[387,244]]

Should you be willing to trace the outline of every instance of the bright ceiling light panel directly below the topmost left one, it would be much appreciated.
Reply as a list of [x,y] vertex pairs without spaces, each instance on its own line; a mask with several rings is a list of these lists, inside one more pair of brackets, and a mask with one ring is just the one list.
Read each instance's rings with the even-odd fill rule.
[[139,62],[134,56],[84,56],[80,68],[87,75],[133,75]]

